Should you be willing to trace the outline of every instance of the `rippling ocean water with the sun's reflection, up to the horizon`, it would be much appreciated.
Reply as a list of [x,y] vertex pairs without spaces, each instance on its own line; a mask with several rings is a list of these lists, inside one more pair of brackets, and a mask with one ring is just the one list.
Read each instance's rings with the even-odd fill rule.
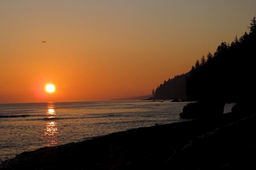
[[[0,160],[44,146],[184,121],[179,113],[187,103],[135,100],[0,104]],[[232,106],[227,104],[224,113]]]

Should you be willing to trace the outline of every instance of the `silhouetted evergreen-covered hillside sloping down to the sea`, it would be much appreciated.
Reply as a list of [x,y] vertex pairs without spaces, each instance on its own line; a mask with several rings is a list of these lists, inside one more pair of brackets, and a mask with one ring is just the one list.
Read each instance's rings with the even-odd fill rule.
[[[186,73],[164,81],[154,99],[240,101],[255,97],[256,18],[239,39],[222,42],[215,53],[197,60]],[[185,93],[186,91],[186,93]]]

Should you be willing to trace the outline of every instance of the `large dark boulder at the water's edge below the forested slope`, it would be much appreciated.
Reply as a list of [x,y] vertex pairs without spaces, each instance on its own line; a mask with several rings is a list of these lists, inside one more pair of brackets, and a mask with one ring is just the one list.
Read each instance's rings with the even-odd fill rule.
[[180,113],[181,119],[193,119],[193,118],[204,118],[212,117],[223,114],[225,102],[195,102],[188,103],[182,109]]

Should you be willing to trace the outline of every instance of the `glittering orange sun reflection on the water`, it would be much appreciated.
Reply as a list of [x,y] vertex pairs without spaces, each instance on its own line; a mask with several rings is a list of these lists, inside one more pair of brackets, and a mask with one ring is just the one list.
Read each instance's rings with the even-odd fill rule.
[[[47,119],[56,117],[54,103],[48,103],[46,116]],[[48,121],[45,123],[41,138],[46,143],[46,146],[56,146],[58,144],[58,126],[56,121]]]

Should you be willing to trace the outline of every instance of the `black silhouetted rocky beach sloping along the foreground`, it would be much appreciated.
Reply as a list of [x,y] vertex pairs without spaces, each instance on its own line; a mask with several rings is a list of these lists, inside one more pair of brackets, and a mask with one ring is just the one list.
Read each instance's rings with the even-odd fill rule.
[[230,113],[24,152],[0,169],[255,169],[255,129],[256,115]]

